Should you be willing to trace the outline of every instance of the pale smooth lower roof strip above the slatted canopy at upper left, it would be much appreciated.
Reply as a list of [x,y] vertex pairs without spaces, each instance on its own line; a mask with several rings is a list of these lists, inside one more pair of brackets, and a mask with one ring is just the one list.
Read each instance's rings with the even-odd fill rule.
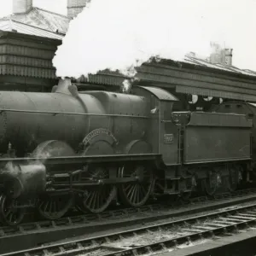
[[50,32],[48,30],[36,26],[27,25],[16,20],[0,20],[0,31],[18,32],[21,34],[27,34],[43,38],[53,38],[59,40],[61,40],[64,37],[64,35],[62,34]]

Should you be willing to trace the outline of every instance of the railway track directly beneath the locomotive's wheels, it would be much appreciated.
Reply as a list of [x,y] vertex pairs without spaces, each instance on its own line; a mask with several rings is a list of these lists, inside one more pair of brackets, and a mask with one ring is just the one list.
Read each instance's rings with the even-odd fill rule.
[[225,192],[212,197],[208,196],[198,196],[191,198],[189,201],[174,201],[171,203],[166,203],[161,201],[161,203],[152,203],[143,207],[125,207],[125,208],[116,208],[110,211],[105,211],[101,213],[88,213],[88,214],[72,214],[64,218],[58,218],[55,220],[38,220],[33,222],[25,222],[19,224],[18,226],[0,226],[0,237],[6,236],[9,234],[28,232],[32,230],[42,230],[52,227],[61,227],[63,225],[71,224],[88,224],[93,221],[102,221],[104,219],[114,219],[114,218],[126,218],[131,215],[143,215],[143,213],[150,212],[160,212],[160,211],[170,211],[171,209],[178,209],[179,207],[189,207],[191,205],[197,204],[207,204],[212,201],[221,201],[227,200],[229,198],[239,198],[245,195],[254,195],[256,194],[256,189],[242,189],[236,192]]

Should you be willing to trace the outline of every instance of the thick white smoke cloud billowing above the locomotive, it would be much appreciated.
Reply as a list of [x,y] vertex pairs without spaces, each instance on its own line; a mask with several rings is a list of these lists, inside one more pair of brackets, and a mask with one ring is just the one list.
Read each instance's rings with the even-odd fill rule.
[[56,75],[78,79],[105,69],[134,75],[134,67],[152,56],[177,61],[189,51],[207,56],[211,47],[201,26],[200,7],[204,3],[91,0],[70,22],[63,44],[56,51]]

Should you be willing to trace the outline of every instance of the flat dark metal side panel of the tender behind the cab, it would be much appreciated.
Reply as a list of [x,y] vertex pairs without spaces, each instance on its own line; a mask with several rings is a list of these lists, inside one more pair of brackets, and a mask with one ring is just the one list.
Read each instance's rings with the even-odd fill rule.
[[244,115],[192,113],[184,129],[184,163],[250,159],[251,127]]

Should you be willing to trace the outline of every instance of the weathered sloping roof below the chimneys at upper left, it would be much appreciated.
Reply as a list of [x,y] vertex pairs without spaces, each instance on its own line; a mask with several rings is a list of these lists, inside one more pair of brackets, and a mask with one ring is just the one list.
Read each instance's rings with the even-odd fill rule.
[[9,15],[0,20],[15,20],[26,25],[35,26],[49,32],[66,34],[70,18],[45,9],[33,7],[26,14]]

